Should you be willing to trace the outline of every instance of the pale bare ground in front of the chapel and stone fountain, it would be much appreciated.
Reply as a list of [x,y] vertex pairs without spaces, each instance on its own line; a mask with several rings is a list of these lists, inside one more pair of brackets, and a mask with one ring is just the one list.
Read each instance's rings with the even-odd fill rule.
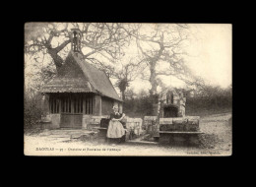
[[[96,140],[76,139],[74,131],[44,131],[25,135],[29,156],[230,156],[232,150],[231,112],[201,117],[199,146],[125,143],[111,146]],[[71,139],[71,134],[73,135]]]

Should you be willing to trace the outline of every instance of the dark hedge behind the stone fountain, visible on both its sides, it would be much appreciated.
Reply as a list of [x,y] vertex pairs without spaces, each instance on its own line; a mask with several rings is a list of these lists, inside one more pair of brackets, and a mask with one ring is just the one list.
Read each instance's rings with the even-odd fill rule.
[[[232,88],[207,86],[199,94],[186,97],[186,115],[204,115],[230,111],[232,107]],[[129,94],[124,102],[124,112],[130,117],[144,117],[153,115],[153,103],[156,103],[157,95],[149,95],[142,90],[135,94],[129,89]]]

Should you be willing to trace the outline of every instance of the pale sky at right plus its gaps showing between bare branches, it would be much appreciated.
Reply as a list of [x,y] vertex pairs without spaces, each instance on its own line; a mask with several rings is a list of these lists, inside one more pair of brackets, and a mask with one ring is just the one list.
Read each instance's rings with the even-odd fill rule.
[[[147,24],[145,30],[149,31],[153,24]],[[207,83],[215,86],[226,88],[232,83],[232,26],[224,24],[191,24],[193,40],[186,48],[189,56],[186,62],[195,75],[201,76]],[[137,47],[131,44],[127,50],[124,61],[136,56]],[[26,66],[34,62],[25,60]],[[29,63],[28,63],[29,62]],[[160,65],[161,66],[161,65]],[[28,68],[25,73],[31,73],[32,69]],[[161,76],[162,82],[166,86],[182,88],[184,83],[171,76]],[[111,79],[114,84],[115,80]],[[130,84],[130,89],[135,93],[141,90],[150,90],[151,85],[148,81],[144,81],[138,77]],[[160,88],[159,88],[160,89]],[[118,90],[117,90],[118,92]]]

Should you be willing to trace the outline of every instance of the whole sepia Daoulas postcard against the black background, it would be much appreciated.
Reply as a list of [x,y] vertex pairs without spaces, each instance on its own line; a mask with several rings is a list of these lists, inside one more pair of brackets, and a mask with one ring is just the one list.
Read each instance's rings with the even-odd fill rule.
[[232,25],[24,25],[25,156],[231,156]]

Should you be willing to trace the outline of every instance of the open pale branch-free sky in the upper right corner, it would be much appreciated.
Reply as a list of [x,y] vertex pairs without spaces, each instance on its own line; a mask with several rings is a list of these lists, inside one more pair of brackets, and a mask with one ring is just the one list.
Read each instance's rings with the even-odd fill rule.
[[199,25],[201,39],[191,45],[198,57],[191,58],[194,72],[223,88],[231,84],[231,25]]

